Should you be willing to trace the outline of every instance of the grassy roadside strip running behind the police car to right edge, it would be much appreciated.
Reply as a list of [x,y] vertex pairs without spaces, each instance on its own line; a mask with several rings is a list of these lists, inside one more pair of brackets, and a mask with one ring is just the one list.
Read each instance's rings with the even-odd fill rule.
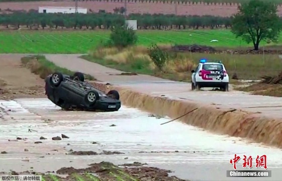
[[116,48],[101,48],[91,51],[82,58],[107,67],[127,72],[149,74],[176,81],[190,81],[191,70],[199,60],[221,60],[229,76],[234,73],[239,79],[261,79],[262,75],[274,76],[279,73],[282,60],[278,55],[230,55],[205,53],[170,53],[162,72],[157,71],[147,54],[147,48],[138,46],[119,51]]

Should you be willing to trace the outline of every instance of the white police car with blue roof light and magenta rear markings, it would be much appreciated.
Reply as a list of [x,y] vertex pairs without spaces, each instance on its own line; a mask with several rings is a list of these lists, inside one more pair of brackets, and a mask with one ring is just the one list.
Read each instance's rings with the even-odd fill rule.
[[221,61],[208,62],[203,59],[195,70],[192,70],[192,90],[202,87],[218,87],[228,91],[229,76]]

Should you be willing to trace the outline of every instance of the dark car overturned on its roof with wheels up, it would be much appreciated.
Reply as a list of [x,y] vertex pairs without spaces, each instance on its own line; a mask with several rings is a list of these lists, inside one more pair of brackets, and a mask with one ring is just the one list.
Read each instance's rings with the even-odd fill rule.
[[118,111],[120,95],[112,90],[107,95],[84,81],[84,75],[72,76],[55,72],[45,78],[45,94],[55,105],[65,110]]

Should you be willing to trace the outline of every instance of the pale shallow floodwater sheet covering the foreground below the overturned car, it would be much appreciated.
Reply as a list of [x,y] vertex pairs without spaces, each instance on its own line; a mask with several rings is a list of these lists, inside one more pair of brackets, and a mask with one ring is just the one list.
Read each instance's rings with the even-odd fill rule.
[[[147,163],[172,170],[174,172],[169,174],[182,179],[246,180],[226,177],[226,170],[232,169],[229,160],[235,153],[253,157],[267,155],[272,177],[263,180],[278,180],[278,172],[282,171],[279,149],[211,134],[176,121],[160,126],[170,119],[154,117],[134,108],[122,107],[110,113],[66,112],[47,99],[0,103],[0,147],[1,152],[6,152],[0,157],[3,163],[0,171],[7,173],[31,170],[31,167],[35,172],[44,173],[61,167],[83,168],[109,161]],[[51,139],[61,134],[69,138]],[[41,136],[47,139],[40,140]],[[42,143],[35,144],[38,141]],[[69,155],[73,151],[120,154]],[[242,168],[240,164],[238,168]]]

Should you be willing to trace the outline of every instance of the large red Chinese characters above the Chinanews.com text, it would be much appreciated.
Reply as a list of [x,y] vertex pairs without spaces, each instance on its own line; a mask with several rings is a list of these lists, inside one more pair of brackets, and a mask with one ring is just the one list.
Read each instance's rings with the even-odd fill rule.
[[[229,163],[233,164],[233,168],[237,170],[237,163],[241,159],[241,157],[237,154],[234,154],[234,158],[230,159]],[[243,168],[252,168],[253,167],[253,158],[252,156],[246,156],[243,155],[243,163],[242,163]],[[267,164],[266,164],[266,155],[259,156],[257,155],[255,159],[255,167],[260,168],[263,167],[264,169],[267,169]]]

